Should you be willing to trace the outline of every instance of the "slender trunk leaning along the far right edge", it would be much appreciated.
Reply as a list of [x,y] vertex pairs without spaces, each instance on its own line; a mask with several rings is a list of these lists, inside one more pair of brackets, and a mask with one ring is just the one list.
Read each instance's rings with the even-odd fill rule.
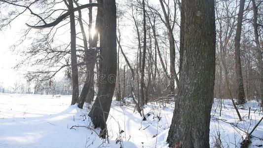
[[258,31],[258,8],[256,6],[255,0],[252,0],[253,3],[253,25],[255,33],[255,42],[258,51],[258,67],[260,72],[260,97],[261,97],[261,106],[263,107],[263,61],[262,61],[262,51],[259,40],[259,31]]

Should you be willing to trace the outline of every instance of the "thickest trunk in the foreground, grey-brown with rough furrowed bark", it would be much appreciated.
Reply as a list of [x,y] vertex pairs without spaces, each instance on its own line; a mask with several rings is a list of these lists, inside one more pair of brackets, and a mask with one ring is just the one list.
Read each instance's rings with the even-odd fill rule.
[[182,0],[179,94],[167,142],[175,148],[209,148],[215,81],[214,0]]

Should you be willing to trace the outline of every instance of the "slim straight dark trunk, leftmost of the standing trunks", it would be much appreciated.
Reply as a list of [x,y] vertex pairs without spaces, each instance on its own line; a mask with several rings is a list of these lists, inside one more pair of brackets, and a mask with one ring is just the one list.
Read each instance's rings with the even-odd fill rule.
[[[74,9],[73,1],[69,0],[69,9]],[[77,57],[76,57],[76,30],[75,30],[75,15],[70,14],[71,26],[71,68],[72,68],[72,102],[75,105],[78,99],[78,74],[77,74]]]

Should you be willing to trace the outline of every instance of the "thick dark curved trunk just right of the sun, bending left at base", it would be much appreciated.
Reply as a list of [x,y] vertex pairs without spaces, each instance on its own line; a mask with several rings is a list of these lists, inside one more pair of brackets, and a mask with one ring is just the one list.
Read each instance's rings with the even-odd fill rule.
[[102,129],[101,136],[106,134],[106,121],[111,109],[113,99],[117,52],[116,52],[116,4],[115,0],[98,0],[102,8],[102,26],[100,29],[100,54],[99,64],[99,90],[97,98],[89,112],[95,128]]

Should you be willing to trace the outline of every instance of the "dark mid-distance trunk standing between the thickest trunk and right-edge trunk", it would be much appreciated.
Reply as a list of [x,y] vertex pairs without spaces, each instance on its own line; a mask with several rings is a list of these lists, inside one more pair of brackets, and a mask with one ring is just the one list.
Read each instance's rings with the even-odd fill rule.
[[238,104],[244,104],[246,102],[242,69],[241,69],[241,60],[240,60],[240,36],[241,36],[244,5],[245,5],[245,0],[240,0],[239,11],[238,11],[238,16],[237,16],[236,35],[235,35],[235,72],[236,72],[236,78],[237,78]]

